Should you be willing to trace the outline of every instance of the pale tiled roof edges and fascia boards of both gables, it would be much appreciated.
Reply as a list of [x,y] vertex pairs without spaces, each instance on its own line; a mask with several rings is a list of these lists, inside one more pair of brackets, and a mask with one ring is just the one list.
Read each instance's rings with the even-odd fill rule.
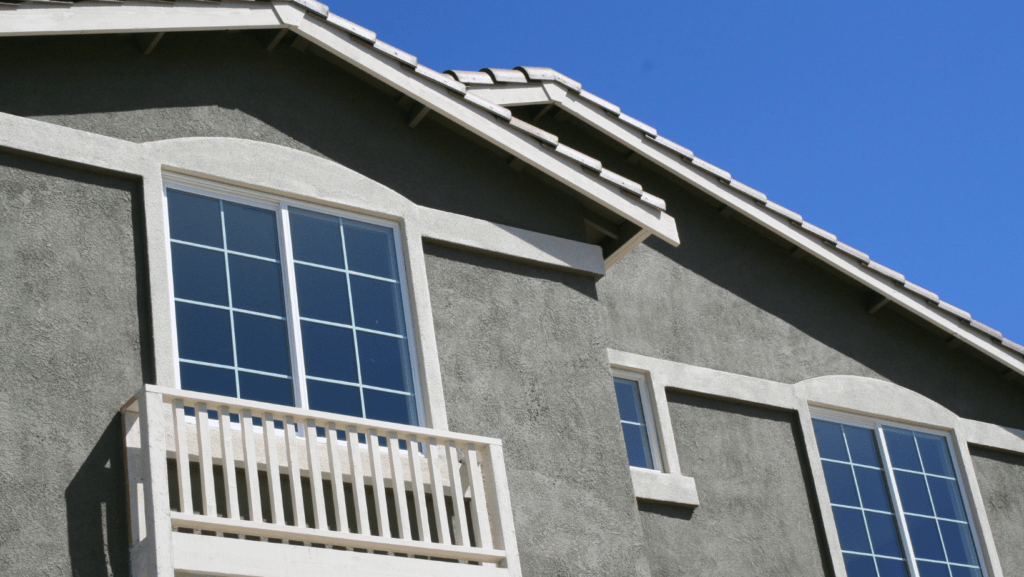
[[[115,6],[118,12],[112,18],[109,10]],[[67,17],[68,10],[75,17]],[[907,281],[902,274],[871,260],[836,235],[804,220],[801,214],[768,200],[767,195],[739,182],[728,171],[697,158],[686,147],[659,134],[653,126],[623,113],[620,107],[550,68],[492,68],[441,74],[421,65],[413,54],[383,42],[373,31],[331,13],[328,6],[315,0],[0,0],[0,12],[4,12],[0,17],[0,37],[150,33],[154,36],[148,49],[166,32],[292,30],[637,224],[640,233],[609,257],[608,265],[623,251],[628,252],[651,234],[678,245],[675,220],[665,213],[665,201],[644,191],[640,183],[604,168],[599,160],[559,142],[555,134],[515,118],[508,108],[527,104],[558,106],[877,292],[880,301],[876,310],[888,302],[899,304],[951,338],[1002,364],[1008,368],[1007,374],[1013,371],[1024,375],[1021,344],[976,321],[970,313],[941,300],[936,293]]]

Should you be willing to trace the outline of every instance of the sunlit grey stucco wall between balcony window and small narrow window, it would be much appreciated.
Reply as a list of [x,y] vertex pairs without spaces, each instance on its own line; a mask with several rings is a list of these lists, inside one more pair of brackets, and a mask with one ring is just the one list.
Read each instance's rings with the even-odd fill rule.
[[450,425],[504,443],[523,575],[648,575],[594,280],[425,248]]

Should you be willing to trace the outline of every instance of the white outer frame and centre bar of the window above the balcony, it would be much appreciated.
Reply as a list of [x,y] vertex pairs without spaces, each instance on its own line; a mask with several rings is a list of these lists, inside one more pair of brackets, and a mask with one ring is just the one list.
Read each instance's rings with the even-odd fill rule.
[[[397,263],[397,283],[401,292],[402,321],[406,325],[404,338],[408,340],[410,372],[412,375],[412,395],[415,398],[415,411],[418,426],[428,426],[424,390],[422,384],[420,357],[420,339],[417,338],[417,325],[414,322],[414,312],[412,302],[413,287],[410,283],[409,274],[409,251],[404,246],[404,237],[401,223],[396,220],[389,220],[377,216],[370,216],[336,207],[322,204],[304,202],[280,195],[263,193],[252,189],[237,187],[207,180],[174,172],[164,172],[161,180],[161,218],[163,221],[164,242],[163,248],[167,255],[167,294],[169,296],[170,307],[170,338],[171,353],[173,360],[174,387],[181,388],[180,358],[178,356],[178,337],[176,323],[176,301],[174,296],[174,274],[171,259],[171,233],[170,213],[168,210],[167,193],[168,189],[194,194],[197,196],[216,199],[220,201],[232,202],[236,204],[252,206],[264,210],[271,210],[278,228],[278,251],[281,262],[281,281],[283,296],[285,298],[285,322],[288,330],[289,360],[292,363],[292,395],[296,408],[308,409],[309,400],[306,389],[305,364],[303,359],[301,326],[298,315],[298,293],[295,284],[295,260],[292,254],[292,241],[290,236],[290,208],[309,210],[348,218],[351,220],[367,222],[378,226],[387,228],[391,231],[395,248],[395,261]],[[353,325],[353,330],[355,330]],[[360,383],[361,388],[361,383]]]

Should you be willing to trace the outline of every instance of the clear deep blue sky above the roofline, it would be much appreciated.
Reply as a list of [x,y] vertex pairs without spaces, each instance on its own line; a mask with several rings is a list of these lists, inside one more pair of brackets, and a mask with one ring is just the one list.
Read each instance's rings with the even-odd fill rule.
[[435,70],[554,68],[1024,342],[1024,2],[330,2]]

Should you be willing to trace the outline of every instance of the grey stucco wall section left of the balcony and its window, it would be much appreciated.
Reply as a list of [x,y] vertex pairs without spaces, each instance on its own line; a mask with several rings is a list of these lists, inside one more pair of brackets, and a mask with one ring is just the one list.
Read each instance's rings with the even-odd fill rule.
[[136,188],[0,154],[4,575],[128,575],[118,411],[152,374]]

